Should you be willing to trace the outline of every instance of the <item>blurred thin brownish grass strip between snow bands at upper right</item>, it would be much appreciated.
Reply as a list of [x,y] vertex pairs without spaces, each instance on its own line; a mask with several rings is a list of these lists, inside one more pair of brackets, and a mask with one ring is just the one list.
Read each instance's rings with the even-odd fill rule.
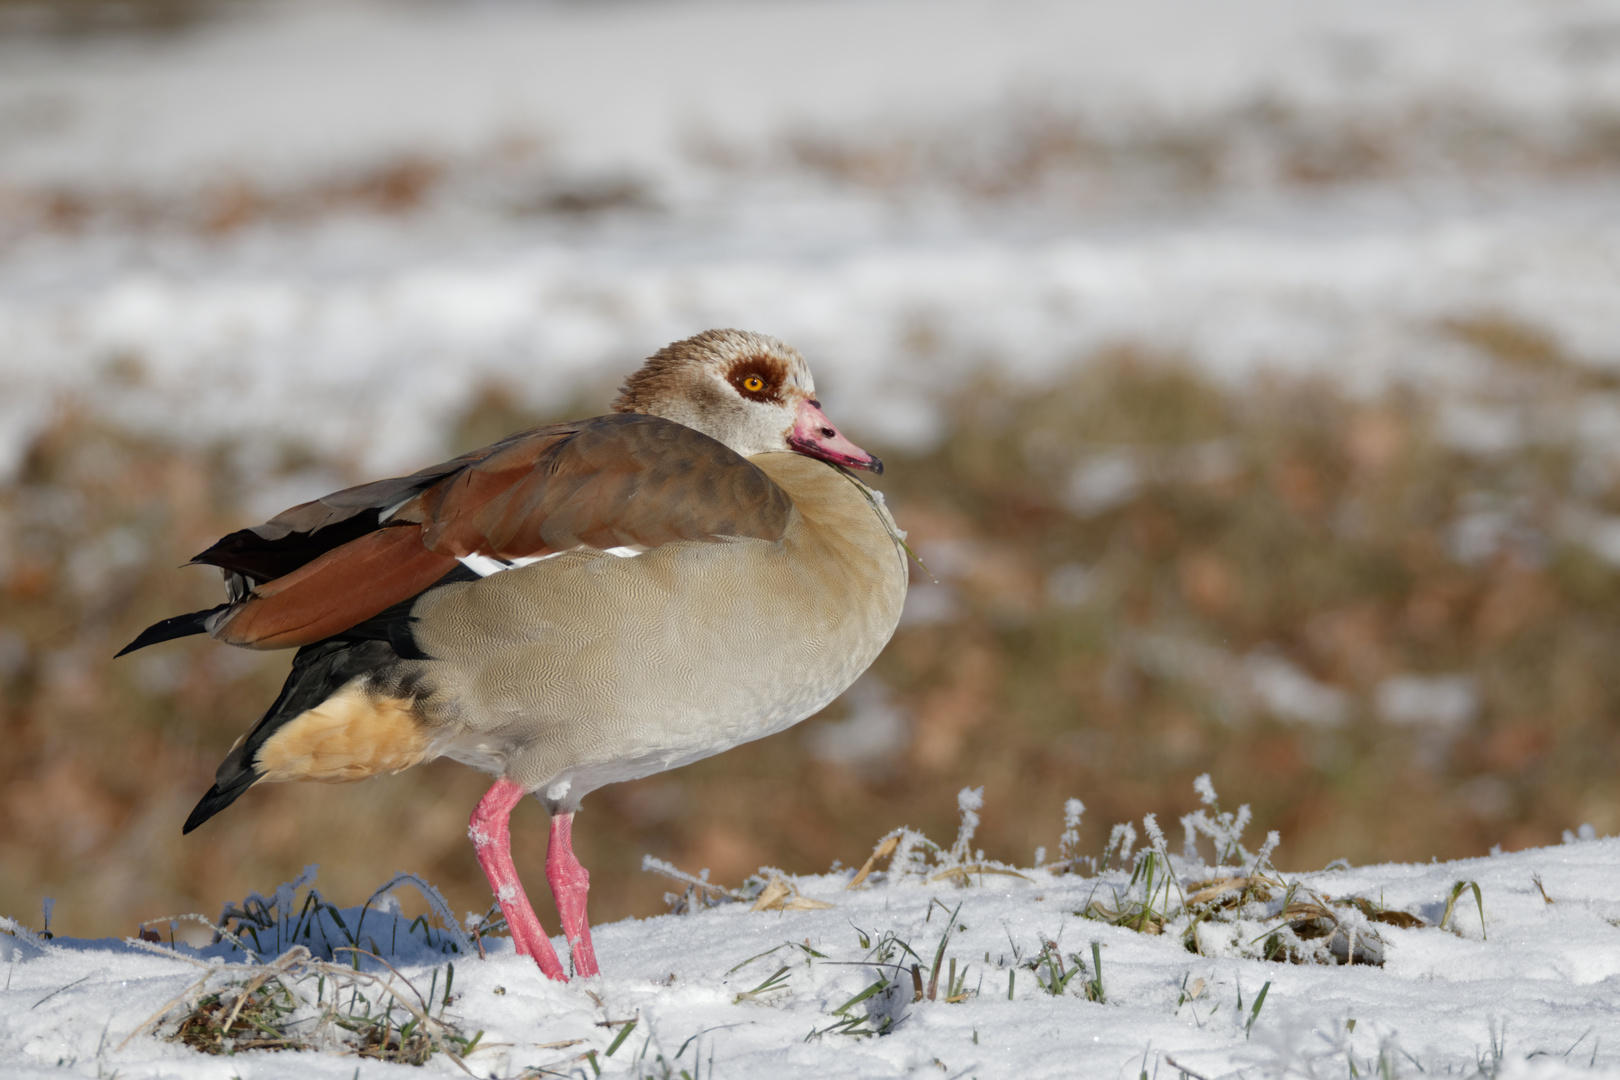
[[[773,155],[860,188],[922,186],[975,199],[1081,206],[1184,204],[1223,191],[1312,191],[1411,176],[1591,178],[1614,170],[1617,133],[1615,115],[1601,107],[1549,125],[1445,96],[1302,108],[1260,94],[1181,117],[1140,108],[1128,120],[1090,115],[1084,105],[1017,100],[933,130],[915,123],[865,136],[804,130]],[[758,154],[706,151],[729,167]]]

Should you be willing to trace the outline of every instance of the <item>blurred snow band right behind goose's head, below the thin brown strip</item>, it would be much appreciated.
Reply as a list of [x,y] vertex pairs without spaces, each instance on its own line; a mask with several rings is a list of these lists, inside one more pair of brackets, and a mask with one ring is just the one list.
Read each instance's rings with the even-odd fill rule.
[[[810,215],[805,232],[820,220]],[[744,223],[731,223],[744,236],[676,225],[682,235],[663,243],[518,227],[478,238],[484,244],[390,238],[386,248],[407,249],[353,261],[322,236],[264,238],[285,244],[275,257],[243,251],[248,240],[175,241],[173,259],[115,269],[99,266],[94,244],[13,253],[0,262],[0,335],[11,342],[0,453],[15,460],[52,402],[89,398],[152,431],[275,431],[399,470],[442,452],[447,419],[483,384],[557,408],[585,390],[601,395],[667,340],[734,324],[797,343],[833,415],[891,444],[938,437],[933,403],[975,369],[1032,385],[1115,342],[1184,355],[1231,381],[1270,368],[1336,369],[1362,390],[1443,385],[1471,371],[1468,356],[1432,342],[1432,325],[1452,314],[1528,311],[1575,348],[1614,340],[1617,222],[1594,207],[1588,219],[1516,228],[1482,207],[1464,220],[1327,235],[1277,220],[1144,225],[1129,236],[1076,225],[1040,238],[876,236],[808,253],[799,249],[807,238],[771,243]],[[1594,277],[1594,266],[1605,272]],[[32,287],[34,275],[55,283]],[[944,350],[909,350],[917,325]],[[1426,363],[1414,369],[1419,350]],[[117,358],[136,359],[133,384],[109,385]],[[1118,487],[1106,479],[1100,494],[1082,481],[1076,499],[1106,502]]]

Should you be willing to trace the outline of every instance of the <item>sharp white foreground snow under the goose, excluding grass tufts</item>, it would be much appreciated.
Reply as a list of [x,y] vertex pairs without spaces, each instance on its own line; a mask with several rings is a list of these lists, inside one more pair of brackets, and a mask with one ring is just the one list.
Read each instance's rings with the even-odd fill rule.
[[[940,855],[940,865],[982,858],[966,850],[966,819],[978,808],[977,792],[964,792],[961,803],[959,850]],[[1079,813],[1071,808],[1071,818]],[[1149,850],[1165,850],[1152,816],[1144,832],[1150,847],[1137,853],[1139,866]],[[977,873],[935,873],[928,881],[902,873],[904,853],[896,853],[891,873],[880,870],[857,889],[847,887],[854,876],[847,870],[784,879],[779,895],[794,897],[786,910],[757,912],[747,900],[688,904],[682,915],[599,926],[595,941],[604,973],[567,984],[548,981],[504,938],[486,938],[488,957],[476,959],[460,926],[424,936],[392,913],[397,908],[389,899],[374,905],[363,925],[360,910],[343,912],[343,925],[358,928],[361,944],[392,963],[402,993],[408,984],[415,988],[410,993],[442,1006],[442,996],[428,988],[442,988],[446,963],[454,963],[454,996],[434,1015],[467,1036],[483,1031],[481,1048],[465,1057],[478,1077],[515,1077],[525,1069],[554,1072],[523,1075],[595,1075],[582,1057],[588,1051],[596,1051],[603,1075],[635,1077],[677,1075],[682,1069],[714,1077],[935,1070],[948,1077],[1136,1077],[1144,1069],[1178,1075],[1176,1065],[1202,1077],[1309,1077],[1358,1075],[1351,1069],[1377,1074],[1380,1059],[1400,1075],[1418,1067],[1427,1075],[1620,1075],[1620,1027],[1614,1020],[1620,1006],[1620,899],[1612,887],[1620,874],[1620,839],[1568,840],[1456,863],[1285,874],[1301,891],[1338,900],[1362,897],[1422,920],[1422,926],[1403,928],[1346,918],[1361,936],[1356,947],[1382,954],[1382,967],[1252,959],[1254,942],[1278,923],[1275,916],[1267,921],[1265,905],[1246,910],[1257,918],[1202,923],[1199,942],[1209,955],[1187,950],[1179,933],[1184,925],[1144,934],[1079,918],[1077,912],[1098,897],[1131,894],[1124,870],[1090,876],[1053,873],[1048,865],[1013,876],[991,863],[978,865]],[[1264,865],[1264,852],[1249,855],[1246,865],[1256,860]],[[1243,873],[1241,865],[1212,871],[1181,857],[1173,865],[1184,889]],[[771,878],[779,874],[765,870],[758,881]],[[1458,882],[1477,884],[1484,923],[1473,889],[1458,892]],[[275,902],[296,913],[306,910],[303,900],[303,892],[284,886]],[[1448,907],[1450,921],[1440,929]],[[262,959],[295,960],[296,954],[285,952],[295,939],[330,955],[343,934],[319,913],[314,925],[313,939],[287,933],[285,925],[279,934],[261,931]],[[938,993],[933,1001],[914,1001],[910,973],[902,968],[919,962],[927,981],[946,925],[953,933],[941,986],[956,960],[966,997],[946,1002],[948,993]],[[42,941],[15,923],[10,931],[13,936],[0,934],[6,965],[0,1062],[8,1077],[117,1072],[272,1080],[352,1077],[356,1067],[360,1075],[402,1069],[334,1049],[209,1057],[159,1038],[173,1031],[181,1014],[165,1014],[167,1002],[186,999],[199,978],[207,976],[207,989],[219,991],[253,973],[230,967],[245,957],[228,942],[172,949],[112,939]],[[1374,931],[1380,941],[1371,939]],[[452,954],[457,941],[460,952]],[[896,952],[901,970],[875,965],[883,941],[906,942],[915,960]],[[1045,942],[1055,942],[1066,968],[1076,957],[1085,963],[1058,994],[1043,986],[1050,981],[1045,967],[1032,970]],[[561,938],[557,946],[565,950]],[[1095,975],[1094,946],[1102,959],[1102,1001],[1089,1001],[1082,991]],[[327,978],[347,970],[342,963],[348,955],[335,959],[340,963],[327,968]],[[366,959],[363,970],[381,980],[390,975],[374,959]],[[838,1012],[886,972],[897,973],[897,991]],[[298,983],[306,996],[313,981]],[[760,991],[765,983],[770,988]],[[198,996],[193,989],[191,999]],[[165,1018],[147,1025],[159,1014]],[[846,1015],[855,1020],[847,1027],[860,1030],[881,1027],[883,1017],[893,1023],[885,1035],[828,1030]],[[604,1051],[622,1028],[608,1022],[632,1018],[637,1028],[608,1057]],[[444,1054],[426,1070],[460,1075]]]

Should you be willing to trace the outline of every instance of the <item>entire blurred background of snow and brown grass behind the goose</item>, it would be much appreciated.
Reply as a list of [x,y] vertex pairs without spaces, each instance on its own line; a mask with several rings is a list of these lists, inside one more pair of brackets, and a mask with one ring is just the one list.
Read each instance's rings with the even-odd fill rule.
[[1283,866],[1614,832],[1617,185],[1612,2],[0,0],[0,912],[481,910],[460,766],[181,840],[285,657],[110,656],[220,533],[711,325],[940,583],[826,717],[598,793],[599,918],[962,784],[1009,860],[1205,771]]

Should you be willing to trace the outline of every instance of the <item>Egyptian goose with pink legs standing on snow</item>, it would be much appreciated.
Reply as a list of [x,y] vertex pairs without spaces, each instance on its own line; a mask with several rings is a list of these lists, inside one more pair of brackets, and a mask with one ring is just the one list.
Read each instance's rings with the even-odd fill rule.
[[883,463],[776,338],[676,342],[612,410],[306,502],[193,559],[228,599],[123,653],[193,633],[298,653],[185,831],[259,780],[454,758],[497,777],[470,834],[517,950],[567,978],[512,863],[509,814],[533,792],[573,970],[595,975],[580,800],[821,709],[894,633],[907,576],[893,518],[847,471]]

